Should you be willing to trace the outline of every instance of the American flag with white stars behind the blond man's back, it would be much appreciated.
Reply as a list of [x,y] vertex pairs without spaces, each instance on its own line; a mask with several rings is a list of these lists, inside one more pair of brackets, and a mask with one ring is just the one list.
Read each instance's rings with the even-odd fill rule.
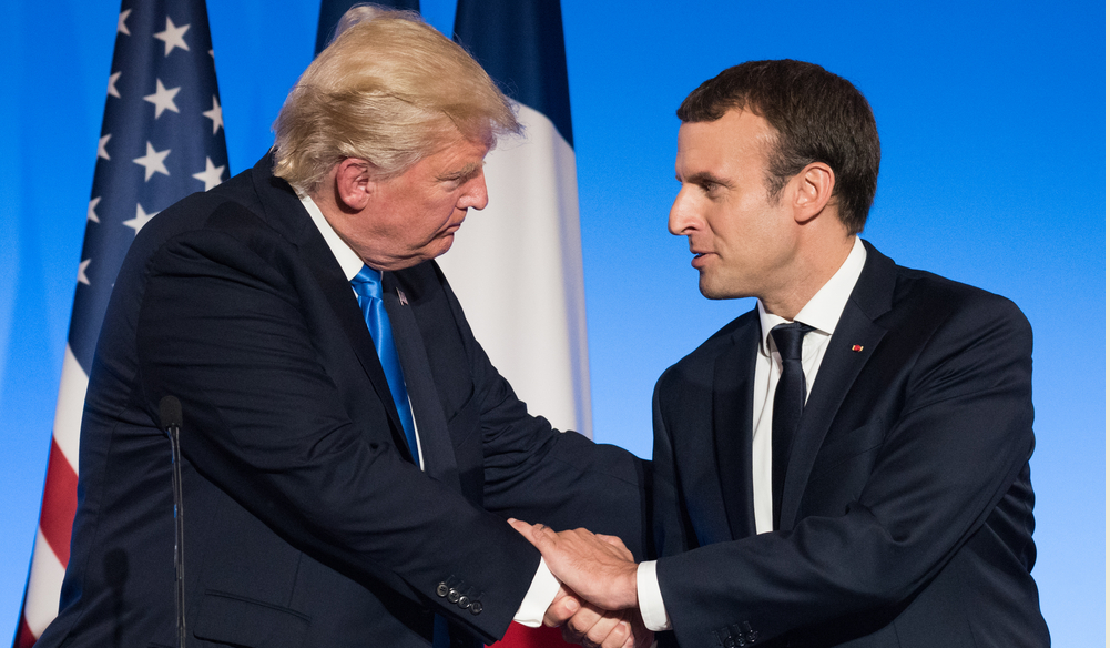
[[159,211],[230,176],[204,0],[124,0],[115,29],[42,511],[14,648],[33,646],[58,615],[77,511],[89,368],[123,257]]

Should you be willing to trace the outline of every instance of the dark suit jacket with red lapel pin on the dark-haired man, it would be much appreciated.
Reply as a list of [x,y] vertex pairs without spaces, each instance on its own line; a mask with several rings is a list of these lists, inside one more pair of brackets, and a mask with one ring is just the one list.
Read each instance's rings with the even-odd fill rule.
[[[1033,566],[1032,333],[868,245],[756,535],[751,311],[659,378],[659,587],[685,648],[1049,645]],[[854,347],[859,347],[858,350]]]

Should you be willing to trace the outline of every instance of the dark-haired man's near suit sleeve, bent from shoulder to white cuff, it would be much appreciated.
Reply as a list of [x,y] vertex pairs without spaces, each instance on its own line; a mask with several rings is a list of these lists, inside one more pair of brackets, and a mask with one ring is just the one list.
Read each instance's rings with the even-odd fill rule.
[[[904,392],[894,419],[869,423],[886,432],[842,514],[659,560],[679,644],[706,645],[729,627],[761,642],[897,610],[981,528],[1032,451],[1032,333],[1012,303],[977,295],[920,348],[897,387]],[[656,420],[660,458],[674,433],[667,422],[664,411]],[[657,463],[659,497],[674,497],[668,468]],[[672,554],[685,544],[683,522],[676,502],[664,508],[656,528]]]

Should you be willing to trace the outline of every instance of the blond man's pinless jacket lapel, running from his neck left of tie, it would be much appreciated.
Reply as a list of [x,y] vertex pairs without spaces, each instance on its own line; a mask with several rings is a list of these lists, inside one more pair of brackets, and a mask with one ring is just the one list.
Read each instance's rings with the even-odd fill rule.
[[301,259],[312,271],[320,290],[327,299],[327,303],[335,311],[335,319],[340,322],[355,357],[362,365],[363,370],[370,378],[374,392],[384,406],[390,418],[391,432],[398,451],[415,462],[412,453],[408,452],[408,445],[404,440],[401,419],[397,417],[395,407],[389,407],[393,402],[390,392],[390,383],[385,379],[382,363],[377,359],[377,351],[374,349],[374,340],[366,329],[366,321],[359,310],[359,301],[351,290],[351,283],[343,275],[339,261],[327,247],[320,230],[312,223],[312,218],[304,210],[301,200],[293,192],[292,188],[284,180],[273,177],[270,169],[273,167],[272,154],[269,154],[254,166],[253,177],[255,192],[262,202],[268,222],[274,229],[297,246]]

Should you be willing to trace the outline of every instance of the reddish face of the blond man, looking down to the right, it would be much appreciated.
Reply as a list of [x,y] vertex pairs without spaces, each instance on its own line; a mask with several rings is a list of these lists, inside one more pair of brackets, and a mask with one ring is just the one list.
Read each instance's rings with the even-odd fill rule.
[[490,147],[460,139],[386,180],[367,180],[365,208],[347,213],[340,237],[373,268],[398,270],[451,249],[466,211],[488,202],[483,159]]

